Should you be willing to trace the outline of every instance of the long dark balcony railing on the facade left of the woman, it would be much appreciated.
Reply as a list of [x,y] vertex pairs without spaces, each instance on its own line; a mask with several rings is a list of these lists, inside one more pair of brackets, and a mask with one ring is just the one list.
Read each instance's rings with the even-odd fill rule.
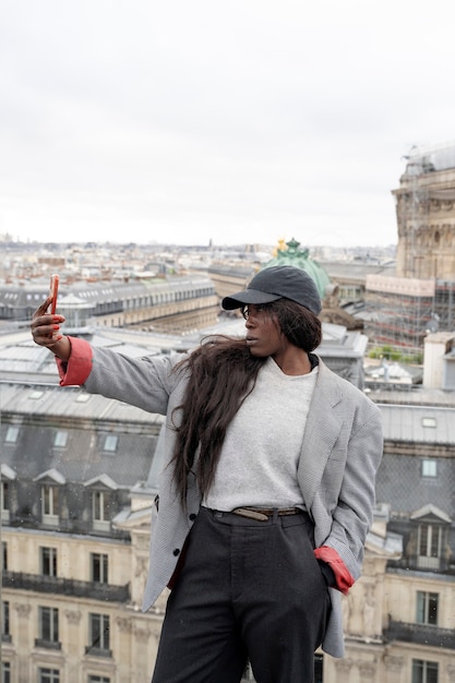
[[74,578],[4,571],[2,585],[3,588],[35,590],[36,592],[59,594],[75,598],[91,598],[93,600],[111,602],[128,602],[130,600],[129,584],[124,586],[111,586],[109,584],[81,582]]

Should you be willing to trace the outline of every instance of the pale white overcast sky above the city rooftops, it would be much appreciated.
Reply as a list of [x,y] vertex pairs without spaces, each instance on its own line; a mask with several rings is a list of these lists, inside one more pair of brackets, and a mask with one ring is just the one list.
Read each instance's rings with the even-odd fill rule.
[[0,233],[391,244],[455,139],[450,0],[3,0]]

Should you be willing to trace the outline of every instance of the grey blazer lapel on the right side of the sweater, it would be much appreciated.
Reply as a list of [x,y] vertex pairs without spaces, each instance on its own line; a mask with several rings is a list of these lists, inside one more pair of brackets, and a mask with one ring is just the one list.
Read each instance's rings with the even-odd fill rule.
[[322,362],[319,373],[297,468],[297,478],[309,511],[343,426],[335,409],[342,397],[338,384]]

